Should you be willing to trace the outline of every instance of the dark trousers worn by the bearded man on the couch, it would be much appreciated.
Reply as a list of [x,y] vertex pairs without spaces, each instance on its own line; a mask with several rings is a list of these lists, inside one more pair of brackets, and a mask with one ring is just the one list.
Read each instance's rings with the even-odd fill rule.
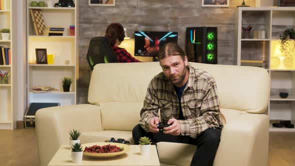
[[160,141],[194,144],[197,148],[190,165],[206,166],[213,165],[213,160],[220,141],[220,133],[220,129],[208,128],[196,138],[192,138],[190,136],[174,136],[162,132],[146,132],[139,124],[137,124],[132,130],[132,137],[135,144],[139,144],[138,140],[141,136],[149,137],[152,140],[152,144]]

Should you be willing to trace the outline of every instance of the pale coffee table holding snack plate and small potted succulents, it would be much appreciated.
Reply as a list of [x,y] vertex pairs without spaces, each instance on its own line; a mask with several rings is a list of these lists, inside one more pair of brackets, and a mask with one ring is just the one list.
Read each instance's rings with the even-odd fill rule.
[[150,145],[150,154],[147,156],[140,155],[139,145],[130,145],[130,150],[114,158],[97,159],[83,156],[82,163],[73,163],[71,161],[71,152],[69,145],[61,145],[56,151],[48,166],[159,166],[160,162],[157,156],[155,145]]

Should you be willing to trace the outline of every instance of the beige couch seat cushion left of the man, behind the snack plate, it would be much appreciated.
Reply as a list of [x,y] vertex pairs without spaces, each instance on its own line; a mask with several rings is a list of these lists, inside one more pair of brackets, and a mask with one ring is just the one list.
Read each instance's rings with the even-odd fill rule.
[[111,137],[114,137],[115,139],[124,138],[125,140],[128,140],[130,144],[134,144],[131,131],[104,130],[82,132],[79,138],[81,143],[91,143],[103,142],[104,140],[109,140]]

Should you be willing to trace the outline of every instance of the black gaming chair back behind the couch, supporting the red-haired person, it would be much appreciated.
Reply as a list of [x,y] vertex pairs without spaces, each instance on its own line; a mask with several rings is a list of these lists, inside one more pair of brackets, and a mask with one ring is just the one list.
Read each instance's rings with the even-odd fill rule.
[[118,61],[107,37],[91,38],[86,59],[91,71],[97,63],[114,63]]

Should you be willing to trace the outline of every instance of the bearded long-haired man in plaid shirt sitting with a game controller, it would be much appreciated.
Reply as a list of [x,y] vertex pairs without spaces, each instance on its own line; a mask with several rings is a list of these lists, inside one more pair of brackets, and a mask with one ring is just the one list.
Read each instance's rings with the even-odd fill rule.
[[[149,82],[139,124],[132,130],[135,144],[141,136],[160,141],[197,145],[190,165],[212,165],[224,116],[217,87],[206,71],[188,65],[185,52],[167,43],[158,56],[162,72]],[[160,109],[160,118],[158,117]],[[159,121],[169,124],[159,132]]]

